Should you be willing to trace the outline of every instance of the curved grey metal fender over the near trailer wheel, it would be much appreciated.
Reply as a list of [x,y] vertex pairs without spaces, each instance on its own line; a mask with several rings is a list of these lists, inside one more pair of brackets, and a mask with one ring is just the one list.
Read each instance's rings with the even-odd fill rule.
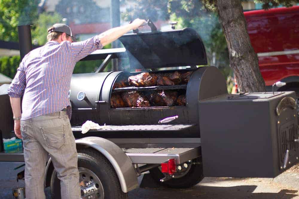
[[[123,150],[113,142],[99,137],[85,137],[76,140],[77,146],[88,146],[103,154],[112,164],[118,176],[121,190],[127,193],[138,187],[137,174],[132,161]],[[49,159],[45,170],[45,181],[48,169],[52,164]]]

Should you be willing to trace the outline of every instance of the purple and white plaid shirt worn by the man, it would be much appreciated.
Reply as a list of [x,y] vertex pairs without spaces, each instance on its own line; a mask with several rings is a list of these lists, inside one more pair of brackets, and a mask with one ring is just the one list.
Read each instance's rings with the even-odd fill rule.
[[22,100],[22,120],[57,112],[67,107],[68,90],[75,64],[103,46],[97,36],[81,42],[49,41],[23,58],[8,95]]

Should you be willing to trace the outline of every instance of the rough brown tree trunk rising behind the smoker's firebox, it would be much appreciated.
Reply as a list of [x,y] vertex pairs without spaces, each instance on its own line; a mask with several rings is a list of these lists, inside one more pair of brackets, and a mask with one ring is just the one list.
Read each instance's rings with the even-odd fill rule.
[[266,91],[257,54],[247,33],[241,1],[218,0],[216,4],[228,44],[230,67],[234,70],[239,91]]

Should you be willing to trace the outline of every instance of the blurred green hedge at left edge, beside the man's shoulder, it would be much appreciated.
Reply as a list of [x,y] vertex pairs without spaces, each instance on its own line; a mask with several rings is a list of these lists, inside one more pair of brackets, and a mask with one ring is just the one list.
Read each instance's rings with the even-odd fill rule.
[[0,73],[7,77],[14,78],[19,65],[20,56],[0,57]]

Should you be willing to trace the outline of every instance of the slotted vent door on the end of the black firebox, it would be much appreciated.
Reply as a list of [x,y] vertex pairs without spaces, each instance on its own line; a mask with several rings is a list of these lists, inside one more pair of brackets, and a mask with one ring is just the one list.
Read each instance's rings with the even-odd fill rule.
[[298,148],[298,144],[295,143],[296,138],[296,128],[295,124],[284,124],[279,128],[279,135],[278,135],[278,149],[279,149],[279,156],[280,161],[283,162],[283,158],[286,154],[286,150]]

